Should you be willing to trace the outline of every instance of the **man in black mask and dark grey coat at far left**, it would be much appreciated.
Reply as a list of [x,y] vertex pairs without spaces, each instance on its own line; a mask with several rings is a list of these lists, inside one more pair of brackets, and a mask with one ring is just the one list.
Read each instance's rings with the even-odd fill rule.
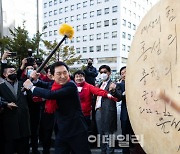
[[5,80],[0,83],[0,97],[4,102],[15,103],[16,106],[4,108],[1,114],[4,153],[29,153],[29,111],[25,94],[21,91],[23,83],[17,80],[17,73],[13,66],[6,66],[3,71]]

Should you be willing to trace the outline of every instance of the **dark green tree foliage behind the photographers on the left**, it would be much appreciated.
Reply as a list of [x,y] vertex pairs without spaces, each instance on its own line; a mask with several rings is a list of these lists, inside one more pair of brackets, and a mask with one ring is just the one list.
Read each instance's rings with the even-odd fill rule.
[[[9,29],[10,37],[4,36],[0,39],[0,47],[1,52],[4,49],[8,49],[11,52],[16,52],[17,56],[13,57],[12,60],[19,66],[23,58],[28,57],[28,49],[32,49],[32,51],[37,51],[39,42],[41,39],[41,34],[37,32],[34,37],[31,39],[29,37],[28,31],[25,29],[24,23],[23,27],[17,27]],[[2,53],[1,53],[2,54]],[[35,57],[42,57],[43,51],[39,50],[39,54],[35,53]]]

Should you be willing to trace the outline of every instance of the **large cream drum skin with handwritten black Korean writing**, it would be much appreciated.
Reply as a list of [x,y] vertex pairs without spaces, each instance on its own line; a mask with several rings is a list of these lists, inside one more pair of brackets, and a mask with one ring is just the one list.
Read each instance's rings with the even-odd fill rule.
[[180,113],[157,97],[158,89],[180,105],[180,0],[161,0],[147,13],[126,74],[129,117],[145,152],[180,154]]

